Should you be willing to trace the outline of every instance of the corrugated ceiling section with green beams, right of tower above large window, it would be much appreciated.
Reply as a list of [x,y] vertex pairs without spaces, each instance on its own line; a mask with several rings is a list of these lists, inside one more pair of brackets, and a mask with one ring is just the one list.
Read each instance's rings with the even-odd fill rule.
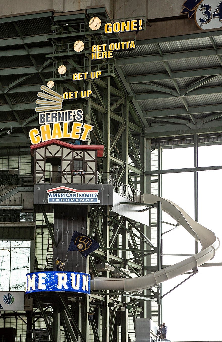
[[221,31],[200,31],[137,41],[134,55],[118,53],[147,137],[221,131],[221,47]]

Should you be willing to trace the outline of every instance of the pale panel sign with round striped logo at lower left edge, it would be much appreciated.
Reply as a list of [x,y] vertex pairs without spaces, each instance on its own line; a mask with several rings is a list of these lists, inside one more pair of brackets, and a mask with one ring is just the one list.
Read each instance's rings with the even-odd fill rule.
[[23,311],[25,291],[0,291],[0,310]]

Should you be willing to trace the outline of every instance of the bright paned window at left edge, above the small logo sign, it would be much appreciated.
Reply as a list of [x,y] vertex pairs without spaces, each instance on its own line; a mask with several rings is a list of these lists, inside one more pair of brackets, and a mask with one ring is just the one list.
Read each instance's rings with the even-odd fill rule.
[[30,269],[30,241],[0,241],[0,291],[25,290]]

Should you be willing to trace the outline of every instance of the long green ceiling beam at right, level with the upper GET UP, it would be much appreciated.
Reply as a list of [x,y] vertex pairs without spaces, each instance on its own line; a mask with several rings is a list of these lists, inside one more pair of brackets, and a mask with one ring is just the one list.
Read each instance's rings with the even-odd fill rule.
[[221,74],[222,74],[222,67],[217,67],[217,68],[194,69],[194,70],[185,70],[185,71],[172,71],[171,76],[169,76],[167,73],[128,76],[126,77],[126,80],[128,83],[142,83],[142,82],[153,82],[153,81],[160,81],[160,80],[162,81],[162,80],[170,80],[170,79],[178,79],[178,78],[180,79],[180,78],[187,78],[187,77],[204,77],[204,76],[221,75]]

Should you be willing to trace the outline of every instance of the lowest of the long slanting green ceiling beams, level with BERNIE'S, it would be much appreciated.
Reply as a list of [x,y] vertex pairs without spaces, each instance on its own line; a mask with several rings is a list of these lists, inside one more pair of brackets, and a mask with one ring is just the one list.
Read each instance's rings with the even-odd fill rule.
[[171,108],[171,109],[157,109],[145,111],[146,118],[164,117],[164,116],[179,116],[186,114],[201,114],[201,113],[213,113],[221,110],[221,104],[203,105],[196,107],[189,107],[189,111],[186,108]]

